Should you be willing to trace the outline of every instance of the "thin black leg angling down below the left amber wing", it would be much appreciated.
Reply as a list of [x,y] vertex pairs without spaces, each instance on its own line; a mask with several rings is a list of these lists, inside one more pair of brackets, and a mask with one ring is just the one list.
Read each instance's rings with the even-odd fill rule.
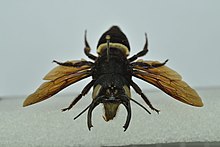
[[85,96],[89,92],[94,83],[95,80],[93,79],[83,88],[82,92],[72,101],[69,107],[62,109],[62,111],[70,110],[82,98],[82,96]]

